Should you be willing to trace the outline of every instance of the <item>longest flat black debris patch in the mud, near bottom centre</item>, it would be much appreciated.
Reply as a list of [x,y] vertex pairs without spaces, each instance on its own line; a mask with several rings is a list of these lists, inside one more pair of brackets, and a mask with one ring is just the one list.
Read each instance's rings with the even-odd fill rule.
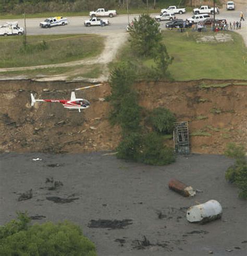
[[132,224],[132,220],[91,220],[88,227],[91,228],[108,228],[108,229],[122,229]]

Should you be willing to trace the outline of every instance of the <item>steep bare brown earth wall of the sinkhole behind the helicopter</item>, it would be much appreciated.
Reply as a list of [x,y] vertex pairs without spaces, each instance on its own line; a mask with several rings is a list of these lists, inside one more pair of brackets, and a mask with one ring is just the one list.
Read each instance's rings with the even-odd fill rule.
[[[222,153],[226,143],[246,143],[246,86],[241,81],[197,80],[188,82],[138,83],[140,104],[145,108],[163,106],[189,121],[192,152]],[[199,85],[231,83],[224,88]],[[244,82],[246,83],[246,81]],[[91,102],[83,113],[70,112],[61,104],[30,106],[30,92],[37,99],[69,99],[81,83],[0,81],[0,151],[70,152],[114,150],[120,140],[119,127],[108,123],[108,84],[77,92]],[[44,92],[43,89],[49,89]],[[200,132],[200,136],[198,133]],[[193,136],[197,133],[197,136]],[[172,140],[168,141],[172,145]]]

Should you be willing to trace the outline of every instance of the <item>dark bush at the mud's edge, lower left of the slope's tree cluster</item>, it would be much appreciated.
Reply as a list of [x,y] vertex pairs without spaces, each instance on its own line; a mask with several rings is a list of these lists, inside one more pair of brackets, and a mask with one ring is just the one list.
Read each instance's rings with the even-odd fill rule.
[[140,133],[131,132],[123,136],[117,147],[117,157],[126,160],[138,161],[140,157],[142,136]]

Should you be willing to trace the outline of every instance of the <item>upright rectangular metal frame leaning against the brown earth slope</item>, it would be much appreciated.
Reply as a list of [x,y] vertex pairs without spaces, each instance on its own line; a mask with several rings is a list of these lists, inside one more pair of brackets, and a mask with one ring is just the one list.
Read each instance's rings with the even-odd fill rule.
[[174,150],[178,154],[190,154],[188,121],[174,123],[173,131]]

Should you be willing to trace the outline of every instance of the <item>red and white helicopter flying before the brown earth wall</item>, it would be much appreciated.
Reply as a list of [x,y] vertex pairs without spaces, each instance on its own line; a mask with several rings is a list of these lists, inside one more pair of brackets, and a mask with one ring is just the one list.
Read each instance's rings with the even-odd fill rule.
[[[92,87],[102,86],[102,83],[95,84],[94,86],[87,86],[75,89],[75,91],[84,90]],[[81,112],[81,109],[89,108],[90,102],[85,99],[77,99],[75,91],[71,92],[70,100],[36,100],[31,93],[31,106],[34,106],[36,102],[53,102],[53,103],[61,103],[65,108],[69,110],[77,110]]]

